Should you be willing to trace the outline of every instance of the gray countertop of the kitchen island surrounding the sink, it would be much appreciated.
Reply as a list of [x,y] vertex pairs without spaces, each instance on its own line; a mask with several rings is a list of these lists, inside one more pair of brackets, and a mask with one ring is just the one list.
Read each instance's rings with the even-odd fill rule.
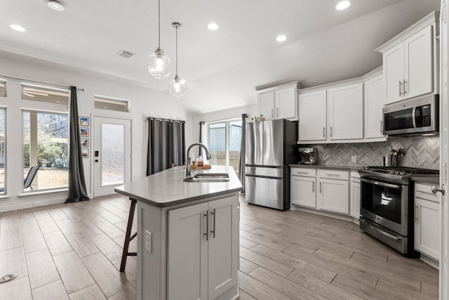
[[143,201],[155,207],[170,207],[206,197],[239,192],[242,188],[239,178],[232,167],[213,165],[211,169],[192,170],[198,173],[228,173],[229,182],[196,183],[182,181],[185,169],[174,167],[159,173],[136,179],[120,185],[114,190],[132,199]]

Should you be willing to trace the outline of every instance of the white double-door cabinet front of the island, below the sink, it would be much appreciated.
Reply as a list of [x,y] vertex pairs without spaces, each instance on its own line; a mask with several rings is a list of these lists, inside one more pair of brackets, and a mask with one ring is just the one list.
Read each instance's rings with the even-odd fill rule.
[[168,299],[216,299],[237,284],[236,196],[168,211]]

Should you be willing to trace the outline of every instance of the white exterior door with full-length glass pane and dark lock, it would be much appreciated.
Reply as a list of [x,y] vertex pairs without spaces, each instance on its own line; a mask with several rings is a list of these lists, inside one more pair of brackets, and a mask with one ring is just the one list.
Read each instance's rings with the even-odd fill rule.
[[110,195],[131,181],[131,121],[94,117],[93,195]]

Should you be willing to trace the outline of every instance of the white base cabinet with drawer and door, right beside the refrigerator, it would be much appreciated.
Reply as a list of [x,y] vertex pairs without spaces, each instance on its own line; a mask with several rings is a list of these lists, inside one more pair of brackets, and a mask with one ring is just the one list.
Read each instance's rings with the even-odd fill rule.
[[316,208],[316,169],[291,168],[290,202]]

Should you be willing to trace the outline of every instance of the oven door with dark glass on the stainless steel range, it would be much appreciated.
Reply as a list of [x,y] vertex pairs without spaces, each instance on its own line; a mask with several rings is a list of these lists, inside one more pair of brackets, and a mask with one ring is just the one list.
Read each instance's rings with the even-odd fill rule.
[[361,178],[361,215],[402,236],[408,235],[408,185]]

